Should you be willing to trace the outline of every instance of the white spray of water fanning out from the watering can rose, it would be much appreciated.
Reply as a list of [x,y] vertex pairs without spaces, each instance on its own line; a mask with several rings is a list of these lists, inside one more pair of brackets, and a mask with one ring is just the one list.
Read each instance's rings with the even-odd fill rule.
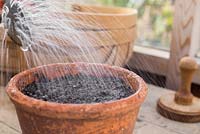
[[[14,59],[17,60],[15,69],[18,72],[52,63],[111,64],[107,57],[112,57],[111,54],[115,53],[116,48],[106,43],[116,45],[117,41],[113,39],[110,32],[102,31],[104,26],[93,16],[87,18],[87,21],[84,21],[84,15],[77,19],[77,11],[73,9],[75,3],[84,2],[82,0],[10,0],[10,3],[4,6],[2,15],[5,36],[1,45],[1,64],[6,67],[12,62],[9,57],[12,54],[10,48],[17,49],[15,56],[20,54],[20,59]],[[87,9],[87,12],[90,10],[93,12],[93,9]],[[122,24],[119,22],[119,25]],[[7,44],[7,34],[16,42],[14,46]],[[118,58],[118,62],[122,60],[124,59]],[[23,65],[26,67],[24,68]],[[48,70],[44,71],[48,73]],[[104,72],[95,66],[90,71],[96,74],[109,73],[113,76],[111,72]],[[1,78],[4,79],[3,74]],[[102,79],[100,78],[99,81],[102,82]]]

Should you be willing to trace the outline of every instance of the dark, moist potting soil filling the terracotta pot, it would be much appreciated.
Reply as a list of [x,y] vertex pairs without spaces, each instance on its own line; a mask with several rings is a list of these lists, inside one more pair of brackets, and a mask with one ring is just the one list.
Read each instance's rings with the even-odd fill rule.
[[36,99],[57,103],[102,103],[126,98],[135,93],[121,78],[85,74],[66,75],[48,80],[40,77],[22,92]]

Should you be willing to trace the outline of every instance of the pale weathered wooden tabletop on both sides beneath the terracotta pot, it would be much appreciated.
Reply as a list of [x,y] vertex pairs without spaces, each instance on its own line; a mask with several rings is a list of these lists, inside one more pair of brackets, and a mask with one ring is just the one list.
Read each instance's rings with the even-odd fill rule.
[[[158,98],[171,91],[149,85],[149,93],[142,105],[135,134],[200,134],[200,123],[180,123],[168,120],[156,112]],[[0,88],[0,134],[20,134],[13,105]]]

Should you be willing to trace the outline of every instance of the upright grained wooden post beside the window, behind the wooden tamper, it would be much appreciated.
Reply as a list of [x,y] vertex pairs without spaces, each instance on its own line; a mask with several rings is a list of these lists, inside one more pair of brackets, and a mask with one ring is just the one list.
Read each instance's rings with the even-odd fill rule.
[[177,90],[180,85],[179,61],[182,57],[189,55],[196,7],[197,0],[176,0],[175,2],[174,26],[166,82],[170,89]]

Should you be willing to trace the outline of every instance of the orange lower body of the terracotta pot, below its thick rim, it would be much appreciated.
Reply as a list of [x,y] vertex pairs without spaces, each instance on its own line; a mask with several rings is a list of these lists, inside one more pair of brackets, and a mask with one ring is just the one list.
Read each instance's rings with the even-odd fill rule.
[[20,124],[26,124],[21,125],[23,134],[132,134],[133,120],[136,120],[135,114],[138,112],[132,111],[132,114],[104,120],[61,120],[22,112],[20,109],[17,111]]

